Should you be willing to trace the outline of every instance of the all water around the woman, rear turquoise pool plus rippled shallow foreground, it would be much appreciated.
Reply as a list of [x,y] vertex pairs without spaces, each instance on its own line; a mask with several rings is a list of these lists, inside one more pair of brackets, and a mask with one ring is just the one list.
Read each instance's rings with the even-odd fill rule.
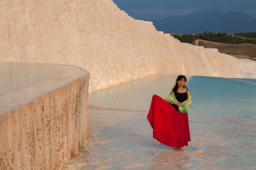
[[68,169],[256,169],[256,80],[188,77],[191,142],[152,139],[151,97],[167,97],[176,75],[152,75],[89,95],[88,145]]

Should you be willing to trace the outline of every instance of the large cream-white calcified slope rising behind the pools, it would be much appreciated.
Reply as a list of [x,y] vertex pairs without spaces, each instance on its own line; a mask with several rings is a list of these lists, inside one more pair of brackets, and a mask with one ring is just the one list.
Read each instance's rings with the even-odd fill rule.
[[1,0],[0,52],[0,61],[82,67],[89,92],[155,73],[246,76],[236,58],[180,43],[112,0]]

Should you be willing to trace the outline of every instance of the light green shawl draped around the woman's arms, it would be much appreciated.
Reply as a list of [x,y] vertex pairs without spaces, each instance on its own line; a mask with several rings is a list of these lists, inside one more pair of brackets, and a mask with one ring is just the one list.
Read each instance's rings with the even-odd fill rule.
[[[171,91],[170,95],[168,96],[168,98],[166,99],[169,103],[171,104],[176,104],[176,103],[180,103],[179,101],[177,101],[175,95],[174,95],[174,91]],[[191,107],[191,95],[188,97],[187,100],[183,101],[183,107],[179,107],[179,111],[181,113],[187,113],[189,111],[189,108]]]

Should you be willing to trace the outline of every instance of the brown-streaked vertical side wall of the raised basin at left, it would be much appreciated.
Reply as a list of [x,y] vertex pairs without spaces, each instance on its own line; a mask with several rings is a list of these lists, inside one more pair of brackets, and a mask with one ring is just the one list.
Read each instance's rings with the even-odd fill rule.
[[0,169],[59,169],[86,142],[89,75],[0,114]]

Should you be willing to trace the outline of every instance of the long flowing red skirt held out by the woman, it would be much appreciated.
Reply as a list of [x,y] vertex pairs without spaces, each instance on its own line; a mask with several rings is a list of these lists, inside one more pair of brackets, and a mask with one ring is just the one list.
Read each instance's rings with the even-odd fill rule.
[[190,132],[188,114],[177,111],[168,101],[152,97],[147,120],[153,129],[153,138],[167,146],[188,146]]

